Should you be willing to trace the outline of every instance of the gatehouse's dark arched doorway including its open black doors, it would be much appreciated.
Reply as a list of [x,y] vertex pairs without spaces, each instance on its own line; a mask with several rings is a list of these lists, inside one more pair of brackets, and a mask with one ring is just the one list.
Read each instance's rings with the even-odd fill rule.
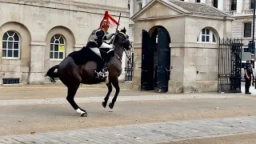
[[142,30],[141,90],[168,91],[170,80],[170,34],[163,26]]

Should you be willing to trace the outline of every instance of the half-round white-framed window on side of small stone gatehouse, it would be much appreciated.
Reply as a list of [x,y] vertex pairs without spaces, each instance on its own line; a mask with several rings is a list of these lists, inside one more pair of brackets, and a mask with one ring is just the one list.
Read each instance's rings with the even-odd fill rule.
[[216,37],[212,30],[204,28],[198,35],[197,42],[200,43],[216,43]]

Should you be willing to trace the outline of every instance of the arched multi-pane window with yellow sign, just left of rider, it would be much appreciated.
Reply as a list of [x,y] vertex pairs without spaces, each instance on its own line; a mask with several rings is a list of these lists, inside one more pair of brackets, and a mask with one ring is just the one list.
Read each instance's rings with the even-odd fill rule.
[[65,48],[65,39],[62,35],[55,34],[50,39],[50,59],[63,59]]

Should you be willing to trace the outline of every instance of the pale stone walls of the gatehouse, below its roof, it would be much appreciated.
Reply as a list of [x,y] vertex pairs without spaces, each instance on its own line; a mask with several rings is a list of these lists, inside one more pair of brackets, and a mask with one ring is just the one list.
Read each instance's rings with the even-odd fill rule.
[[[217,91],[218,38],[231,36],[231,21],[220,18],[177,17],[134,23],[134,89],[141,87],[142,30],[164,26],[170,34],[170,93]],[[203,28],[216,36],[215,43],[197,42]]]

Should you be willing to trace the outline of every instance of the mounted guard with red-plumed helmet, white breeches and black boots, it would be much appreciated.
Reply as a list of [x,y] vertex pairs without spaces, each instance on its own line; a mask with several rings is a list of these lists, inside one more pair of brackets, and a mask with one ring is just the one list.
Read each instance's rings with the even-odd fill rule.
[[86,46],[89,47],[90,50],[94,51],[94,53],[100,57],[100,62],[98,62],[97,70],[95,70],[96,78],[106,78],[105,70],[102,70],[103,66],[105,65],[105,61],[104,58],[102,58],[100,49],[105,49],[103,51],[105,51],[107,54],[110,54],[110,52],[114,53],[114,45],[104,42],[105,40],[110,40],[110,38],[112,38],[115,34],[115,32],[112,32],[110,34],[108,34],[107,32],[110,25],[114,26],[110,23],[110,21],[112,21],[116,25],[119,25],[119,23],[116,22],[114,18],[110,16],[110,14],[108,14],[108,11],[106,11],[99,28],[97,30],[94,30],[92,34],[90,34],[89,42]]

